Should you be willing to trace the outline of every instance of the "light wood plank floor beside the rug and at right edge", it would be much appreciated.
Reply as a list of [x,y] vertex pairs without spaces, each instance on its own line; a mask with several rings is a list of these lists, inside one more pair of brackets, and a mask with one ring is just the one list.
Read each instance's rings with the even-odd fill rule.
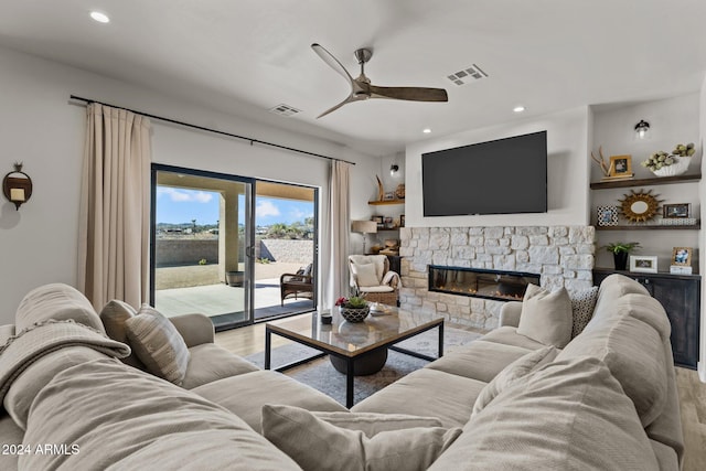
[[[265,324],[218,332],[216,343],[240,356],[264,352]],[[277,335],[272,336],[272,347],[287,343],[290,341]],[[704,471],[706,470],[706,384],[698,379],[695,371],[680,367],[675,370],[686,445],[683,471]]]

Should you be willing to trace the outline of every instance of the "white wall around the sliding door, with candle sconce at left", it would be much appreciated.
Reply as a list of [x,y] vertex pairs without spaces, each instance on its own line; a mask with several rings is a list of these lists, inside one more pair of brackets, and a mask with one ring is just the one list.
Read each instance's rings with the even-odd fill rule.
[[[76,281],[85,107],[69,103],[72,94],[357,162],[351,171],[351,206],[356,208],[367,208],[371,175],[374,181],[379,165],[377,158],[333,142],[4,49],[0,49],[0,173],[23,161],[34,183],[32,199],[19,212],[0,200],[0,324],[13,322],[17,306],[30,289]],[[154,162],[320,186],[322,199],[327,197],[327,160],[158,121],[152,147]],[[321,216],[324,221],[325,214]]]

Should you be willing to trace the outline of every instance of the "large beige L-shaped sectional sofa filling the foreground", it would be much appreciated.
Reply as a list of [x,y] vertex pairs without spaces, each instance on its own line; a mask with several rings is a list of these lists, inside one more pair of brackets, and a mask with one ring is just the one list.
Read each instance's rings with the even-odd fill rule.
[[499,329],[347,411],[223,351],[200,315],[172,320],[189,349],[181,386],[158,378],[104,334],[131,343],[119,325],[135,313],[101,322],[72,288],[41,287],[0,328],[0,442],[66,452],[1,454],[0,469],[678,470],[660,303],[611,276],[588,325],[557,346],[526,335],[541,298],[506,303]]

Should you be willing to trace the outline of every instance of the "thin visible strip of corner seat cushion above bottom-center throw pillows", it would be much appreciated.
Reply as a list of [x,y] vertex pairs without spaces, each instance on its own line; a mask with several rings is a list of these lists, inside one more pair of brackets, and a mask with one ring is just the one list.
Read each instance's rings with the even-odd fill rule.
[[335,427],[362,431],[373,437],[381,431],[404,430],[416,427],[441,427],[435,417],[419,417],[406,414],[376,413],[313,413],[313,415]]

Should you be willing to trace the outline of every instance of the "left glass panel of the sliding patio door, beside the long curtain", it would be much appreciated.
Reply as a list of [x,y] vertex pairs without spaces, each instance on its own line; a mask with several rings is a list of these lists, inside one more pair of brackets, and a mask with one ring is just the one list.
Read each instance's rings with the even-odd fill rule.
[[154,164],[151,302],[216,330],[253,321],[253,180]]

